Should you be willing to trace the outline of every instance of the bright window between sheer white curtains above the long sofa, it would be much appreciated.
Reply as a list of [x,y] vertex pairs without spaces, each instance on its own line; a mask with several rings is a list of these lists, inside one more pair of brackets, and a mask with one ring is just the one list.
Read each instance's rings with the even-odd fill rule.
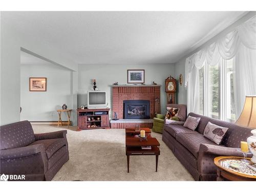
[[216,66],[205,64],[199,70],[199,75],[198,113],[229,122],[236,121],[233,59],[221,59]]

